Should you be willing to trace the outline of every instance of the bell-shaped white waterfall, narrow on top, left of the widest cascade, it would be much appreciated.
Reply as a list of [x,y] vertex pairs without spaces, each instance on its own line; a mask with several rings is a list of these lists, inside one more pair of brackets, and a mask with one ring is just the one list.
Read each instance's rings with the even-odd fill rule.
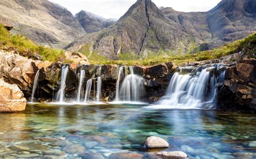
[[119,101],[140,102],[144,96],[144,78],[133,73],[133,67],[129,68],[130,75],[127,75],[122,82],[117,99]]

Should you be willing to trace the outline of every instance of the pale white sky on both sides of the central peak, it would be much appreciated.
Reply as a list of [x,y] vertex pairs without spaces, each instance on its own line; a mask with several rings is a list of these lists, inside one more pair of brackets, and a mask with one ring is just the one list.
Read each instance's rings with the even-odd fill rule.
[[[136,0],[49,0],[58,3],[73,15],[80,10],[95,13],[104,18],[118,19],[130,8]],[[208,11],[221,0],[152,0],[158,7],[171,7],[176,11]]]

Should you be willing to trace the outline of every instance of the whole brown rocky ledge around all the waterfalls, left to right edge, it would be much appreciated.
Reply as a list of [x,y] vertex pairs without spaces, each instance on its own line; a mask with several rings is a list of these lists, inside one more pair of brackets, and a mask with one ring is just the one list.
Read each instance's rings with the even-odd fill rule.
[[[87,62],[85,56],[79,53],[66,53],[75,63],[69,64],[69,73],[66,81],[67,99],[74,99],[78,88],[80,70],[85,70],[85,79],[96,79],[102,77],[102,101],[110,102],[114,99],[116,82],[118,79],[119,66],[104,65],[95,66]],[[256,110],[256,60],[243,60],[240,54],[233,54],[222,57],[218,60],[207,60],[194,63],[186,63],[184,66],[198,67],[211,63],[224,63],[228,66],[225,82],[219,85],[218,110],[255,112]],[[0,52],[0,78],[5,82],[18,85],[24,93],[24,97],[30,100],[33,80],[39,70],[38,90],[35,95],[37,102],[52,102],[60,87],[61,68],[64,64],[52,63],[49,61],[31,60],[19,56],[14,52]],[[238,61],[238,62],[233,62]],[[86,65],[85,65],[86,64]],[[125,67],[124,74],[127,74],[129,67]],[[146,95],[143,102],[154,103],[165,95],[169,81],[178,70],[172,62],[162,63],[151,67],[133,67],[134,74],[145,79],[144,85]],[[72,80],[70,80],[72,79]],[[85,84],[85,83],[83,83]],[[92,92],[91,93],[95,93]],[[224,99],[225,97],[225,99]],[[228,100],[226,100],[228,97]],[[230,104],[232,101],[233,103]]]

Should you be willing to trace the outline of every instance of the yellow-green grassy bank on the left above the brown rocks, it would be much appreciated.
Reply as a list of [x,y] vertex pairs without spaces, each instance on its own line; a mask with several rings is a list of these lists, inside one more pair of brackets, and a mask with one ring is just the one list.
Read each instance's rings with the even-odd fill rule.
[[20,55],[26,57],[31,57],[36,53],[41,55],[45,61],[70,62],[65,59],[64,50],[39,46],[22,35],[12,35],[2,24],[0,24],[0,47],[15,48]]

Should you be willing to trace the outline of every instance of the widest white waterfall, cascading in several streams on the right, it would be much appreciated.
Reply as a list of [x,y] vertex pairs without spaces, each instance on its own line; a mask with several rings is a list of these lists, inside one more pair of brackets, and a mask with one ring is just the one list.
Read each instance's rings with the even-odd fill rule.
[[223,68],[220,64],[197,69],[181,67],[172,76],[166,95],[155,108],[215,109],[218,92],[216,84],[224,82]]

